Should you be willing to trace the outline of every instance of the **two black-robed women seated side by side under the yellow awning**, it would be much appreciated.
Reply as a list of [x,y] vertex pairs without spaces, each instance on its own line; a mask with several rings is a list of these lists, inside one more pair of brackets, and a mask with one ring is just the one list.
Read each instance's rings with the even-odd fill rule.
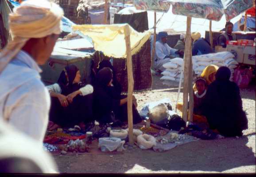
[[[97,120],[100,124],[128,121],[127,96],[121,95],[121,85],[115,77],[109,61],[102,61],[92,85],[84,85],[75,65],[68,65],[60,74],[58,82],[47,86],[51,96],[48,130],[69,128]],[[140,123],[136,98],[132,96],[133,123]]]

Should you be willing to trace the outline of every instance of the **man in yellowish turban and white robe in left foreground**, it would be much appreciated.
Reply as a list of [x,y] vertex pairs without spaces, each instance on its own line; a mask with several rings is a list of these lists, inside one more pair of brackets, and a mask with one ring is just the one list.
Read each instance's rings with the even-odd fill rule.
[[50,108],[40,80],[61,33],[63,10],[48,0],[26,0],[9,15],[13,40],[0,53],[0,117],[43,142]]

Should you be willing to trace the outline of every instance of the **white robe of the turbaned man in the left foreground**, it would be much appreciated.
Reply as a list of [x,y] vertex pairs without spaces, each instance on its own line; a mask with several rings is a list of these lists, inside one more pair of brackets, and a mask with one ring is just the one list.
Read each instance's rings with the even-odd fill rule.
[[40,72],[33,58],[22,50],[6,66],[0,74],[0,119],[43,143],[50,95]]

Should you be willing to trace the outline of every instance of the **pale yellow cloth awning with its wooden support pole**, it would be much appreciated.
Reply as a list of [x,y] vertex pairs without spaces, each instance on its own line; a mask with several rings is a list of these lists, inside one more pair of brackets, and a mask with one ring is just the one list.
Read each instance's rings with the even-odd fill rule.
[[75,25],[73,30],[80,31],[92,38],[95,50],[103,52],[106,56],[126,58],[128,72],[128,137],[129,143],[133,144],[132,93],[134,81],[132,55],[140,50],[150,37],[150,33],[139,33],[128,24]]

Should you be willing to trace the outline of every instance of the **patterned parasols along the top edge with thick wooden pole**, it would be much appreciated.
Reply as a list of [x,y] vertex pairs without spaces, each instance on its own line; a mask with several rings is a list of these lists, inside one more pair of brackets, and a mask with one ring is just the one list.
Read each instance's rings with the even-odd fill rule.
[[[139,10],[163,11],[167,12],[172,5],[172,12],[176,15],[184,15],[187,17],[186,25],[186,46],[184,54],[184,92],[183,92],[183,108],[182,119],[192,121],[193,106],[188,109],[188,96],[190,95],[190,105],[193,105],[192,91],[192,54],[191,54],[191,17],[220,21],[225,14],[227,21],[233,19],[240,13],[252,8],[255,5],[253,0],[237,1],[216,1],[211,0],[134,0],[134,5]],[[169,8],[168,8],[169,7]],[[182,76],[180,78],[181,86]]]

